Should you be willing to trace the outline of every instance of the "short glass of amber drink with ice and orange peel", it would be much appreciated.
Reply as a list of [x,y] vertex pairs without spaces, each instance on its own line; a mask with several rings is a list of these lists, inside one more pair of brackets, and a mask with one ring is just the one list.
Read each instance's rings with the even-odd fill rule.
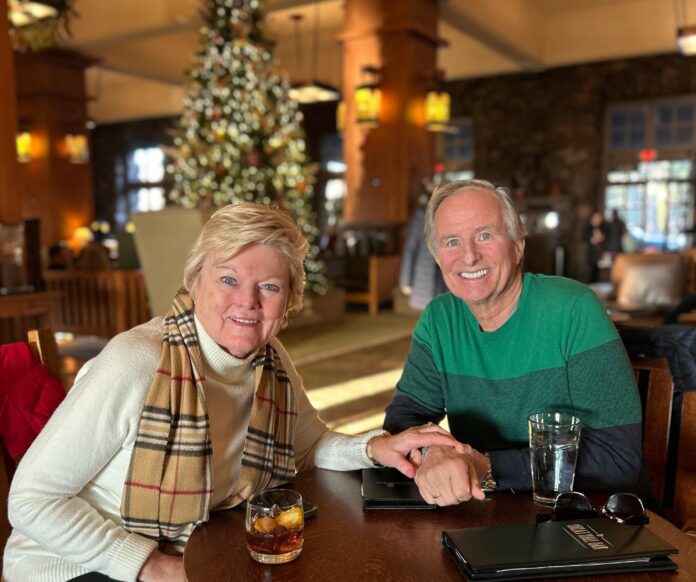
[[247,500],[247,547],[264,564],[297,558],[304,543],[302,496],[289,489],[269,489]]

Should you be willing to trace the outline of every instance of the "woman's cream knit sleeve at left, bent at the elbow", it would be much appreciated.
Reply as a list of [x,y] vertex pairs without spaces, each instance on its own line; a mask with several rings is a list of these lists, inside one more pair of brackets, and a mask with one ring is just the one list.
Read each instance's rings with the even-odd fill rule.
[[[137,430],[159,357],[157,347],[148,349],[150,340],[159,345],[156,332],[137,328],[114,338],[88,364],[24,456],[12,481],[9,518],[18,533],[53,556],[10,551],[8,581],[64,580],[97,571],[135,582],[157,548],[81,496]],[[113,487],[123,487],[123,476]]]

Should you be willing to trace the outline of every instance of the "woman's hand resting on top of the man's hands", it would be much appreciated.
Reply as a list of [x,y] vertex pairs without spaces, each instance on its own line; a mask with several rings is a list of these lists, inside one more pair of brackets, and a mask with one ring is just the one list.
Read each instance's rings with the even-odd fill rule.
[[420,458],[417,454],[421,447],[440,445],[452,447],[460,453],[464,445],[455,439],[445,429],[429,422],[422,426],[414,426],[395,435],[382,435],[371,441],[372,456],[385,467],[394,467],[407,477],[413,477],[418,468]]

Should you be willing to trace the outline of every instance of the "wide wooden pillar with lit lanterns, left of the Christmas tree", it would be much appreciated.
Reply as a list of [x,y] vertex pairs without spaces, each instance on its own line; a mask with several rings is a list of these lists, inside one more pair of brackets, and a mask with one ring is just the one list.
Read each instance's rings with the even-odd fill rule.
[[32,160],[19,164],[22,218],[40,218],[41,243],[69,239],[94,216],[89,163],[70,163],[65,136],[87,134],[84,71],[94,61],[51,49],[17,54],[19,126],[32,134]]

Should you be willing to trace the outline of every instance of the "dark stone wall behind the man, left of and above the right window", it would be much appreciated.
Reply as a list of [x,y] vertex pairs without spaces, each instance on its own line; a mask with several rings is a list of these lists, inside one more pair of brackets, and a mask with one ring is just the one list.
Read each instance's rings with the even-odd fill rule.
[[696,93],[696,59],[677,54],[449,83],[452,117],[474,126],[476,177],[524,208],[563,198],[566,274],[584,279],[582,226],[603,203],[604,119],[625,101]]

